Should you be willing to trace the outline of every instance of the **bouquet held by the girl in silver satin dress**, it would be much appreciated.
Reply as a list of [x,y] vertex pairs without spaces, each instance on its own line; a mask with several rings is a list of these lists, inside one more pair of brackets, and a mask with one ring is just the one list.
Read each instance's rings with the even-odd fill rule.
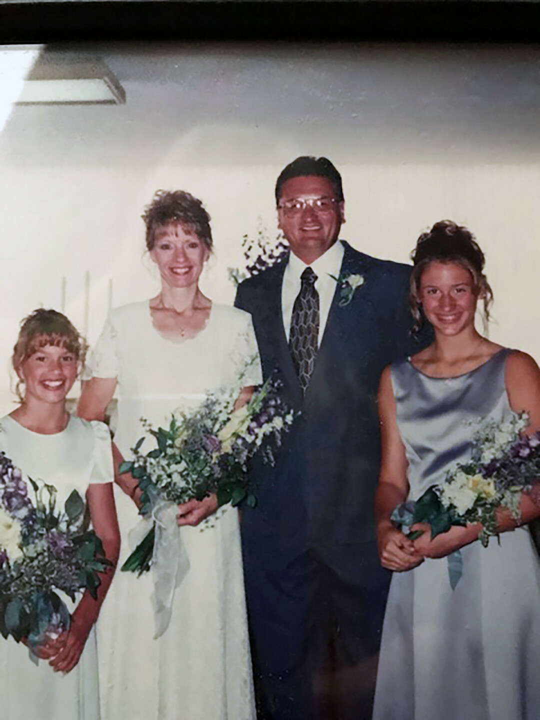
[[[395,508],[392,520],[408,532],[414,523],[428,523],[436,537],[453,525],[482,523],[480,541],[487,546],[497,534],[497,508],[507,508],[520,517],[521,492],[531,490],[540,478],[540,432],[520,433],[528,426],[526,413],[516,414],[498,425],[493,420],[477,423],[473,435],[472,457],[457,464],[441,485],[429,487],[418,500],[408,500]],[[421,531],[408,533],[410,539]],[[461,577],[459,551],[449,555],[452,588]]]

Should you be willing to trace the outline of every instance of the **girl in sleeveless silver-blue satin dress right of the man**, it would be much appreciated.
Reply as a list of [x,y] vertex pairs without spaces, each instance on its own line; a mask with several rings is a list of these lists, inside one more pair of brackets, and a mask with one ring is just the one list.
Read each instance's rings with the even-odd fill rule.
[[[390,514],[467,462],[467,420],[503,423],[526,410],[526,432],[538,430],[540,370],[530,356],[474,328],[477,302],[489,317],[492,292],[467,228],[437,222],[420,235],[413,261],[413,315],[418,324],[423,310],[435,341],[385,369],[379,387],[379,554],[394,575],[374,720],[536,720],[540,565],[526,523],[540,515],[539,506],[522,495],[519,522],[501,510],[500,543],[487,548],[478,541],[478,523],[433,540],[428,526],[418,526],[424,532],[412,542]],[[456,549],[463,567],[452,590],[446,556]]]

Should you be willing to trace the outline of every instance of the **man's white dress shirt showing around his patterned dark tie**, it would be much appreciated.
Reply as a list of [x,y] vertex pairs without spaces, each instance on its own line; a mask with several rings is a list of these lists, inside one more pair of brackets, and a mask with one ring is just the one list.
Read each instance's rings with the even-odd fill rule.
[[[317,260],[310,265],[317,276],[315,289],[319,294],[319,347],[323,340],[330,305],[332,305],[334,293],[336,292],[336,280],[333,280],[330,275],[338,276],[341,270],[344,251],[343,243],[341,243],[341,240],[338,240],[333,246],[328,248],[324,255],[321,255],[320,258],[317,258]],[[300,292],[300,287],[302,287],[300,277],[307,267],[305,262],[297,258],[294,253],[289,254],[289,262],[285,268],[282,286],[283,326],[285,328],[287,341],[289,341],[291,331],[292,306],[294,305],[294,300],[297,298],[297,294]]]

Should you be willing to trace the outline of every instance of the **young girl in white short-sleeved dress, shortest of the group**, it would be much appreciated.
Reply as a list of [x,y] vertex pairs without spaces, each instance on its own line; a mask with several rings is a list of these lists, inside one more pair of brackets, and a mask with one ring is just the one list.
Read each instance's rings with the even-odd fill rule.
[[[0,639],[0,717],[5,720],[99,720],[94,624],[114,574],[120,534],[109,428],[66,410],[83,348],[60,312],[40,309],[24,320],[12,359],[24,392],[19,407],[0,420],[0,450],[23,478],[53,485],[57,507],[63,508],[73,490],[86,498],[91,524],[113,565],[101,575],[97,600],[88,591],[78,603],[63,595],[71,625],[37,646],[37,667],[22,642]],[[28,494],[32,498],[31,487]]]

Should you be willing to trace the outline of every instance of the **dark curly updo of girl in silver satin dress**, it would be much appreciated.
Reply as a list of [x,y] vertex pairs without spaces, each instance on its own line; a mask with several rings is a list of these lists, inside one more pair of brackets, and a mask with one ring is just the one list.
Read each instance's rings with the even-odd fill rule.
[[432,262],[459,263],[472,275],[474,290],[477,297],[482,298],[484,305],[484,325],[490,320],[490,305],[493,292],[484,274],[485,257],[474,235],[464,227],[451,220],[440,220],[433,225],[428,233],[422,233],[416,247],[410,254],[413,271],[410,274],[410,311],[415,324],[413,334],[419,332],[423,325],[420,302],[420,280],[423,271]]

